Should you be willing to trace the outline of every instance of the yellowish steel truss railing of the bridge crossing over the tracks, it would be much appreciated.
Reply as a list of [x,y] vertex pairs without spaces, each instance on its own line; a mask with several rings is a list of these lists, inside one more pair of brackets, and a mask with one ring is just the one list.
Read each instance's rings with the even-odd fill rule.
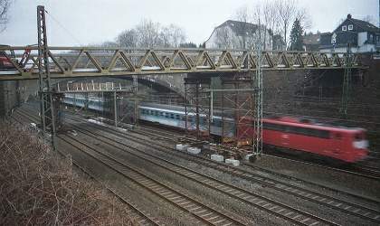
[[[49,47],[52,78],[136,74],[255,71],[256,52],[239,49],[123,49]],[[0,80],[38,77],[36,46],[0,46]],[[346,67],[345,52],[261,52],[263,70],[337,69]],[[352,54],[353,67],[362,67]]]

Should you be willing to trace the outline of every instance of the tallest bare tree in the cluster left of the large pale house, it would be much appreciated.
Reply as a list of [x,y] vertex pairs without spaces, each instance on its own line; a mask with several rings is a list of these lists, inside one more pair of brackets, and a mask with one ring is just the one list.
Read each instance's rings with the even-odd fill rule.
[[138,33],[138,46],[154,48],[162,44],[159,35],[160,24],[151,20],[144,20],[136,27]]

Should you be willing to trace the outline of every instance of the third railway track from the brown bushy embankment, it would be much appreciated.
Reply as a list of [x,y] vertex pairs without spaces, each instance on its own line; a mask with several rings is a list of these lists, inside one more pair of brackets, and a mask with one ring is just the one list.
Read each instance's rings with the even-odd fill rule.
[[[337,225],[332,221],[327,221],[322,218],[319,218],[315,215],[309,214],[308,212],[302,212],[298,209],[292,208],[289,205],[282,204],[280,202],[275,202],[269,198],[265,198],[256,193],[252,193],[240,187],[234,186],[232,184],[224,183],[214,177],[211,177],[206,174],[202,174],[195,170],[189,169],[182,165],[177,165],[172,161],[168,161],[164,158],[158,157],[157,155],[151,155],[146,152],[140,151],[138,148],[134,146],[128,146],[121,141],[116,141],[113,139],[109,139],[109,137],[104,137],[100,133],[90,132],[89,129],[85,129],[83,127],[75,127],[76,131],[80,131],[82,134],[86,134],[93,139],[101,140],[102,142],[108,144],[109,146],[113,146],[120,151],[126,152],[127,147],[129,150],[133,150],[134,152],[127,151],[129,155],[137,156],[138,158],[143,159],[153,165],[157,165],[166,169],[173,174],[179,174],[186,179],[192,180],[198,184],[202,184],[206,187],[209,187],[215,191],[220,193],[224,193],[233,197],[236,200],[241,202],[245,202],[251,204],[253,207],[261,209],[265,212],[270,212],[273,215],[284,218],[287,221],[295,222],[300,225],[315,225],[315,224],[326,224],[326,225]],[[110,141],[111,140],[111,141]],[[113,143],[116,143],[113,144]],[[138,154],[137,154],[137,153]]]

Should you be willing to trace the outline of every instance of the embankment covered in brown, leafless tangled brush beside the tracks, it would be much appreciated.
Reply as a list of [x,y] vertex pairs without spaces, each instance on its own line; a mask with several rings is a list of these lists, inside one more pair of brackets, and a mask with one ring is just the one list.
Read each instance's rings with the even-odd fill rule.
[[0,122],[0,225],[135,225],[33,130]]

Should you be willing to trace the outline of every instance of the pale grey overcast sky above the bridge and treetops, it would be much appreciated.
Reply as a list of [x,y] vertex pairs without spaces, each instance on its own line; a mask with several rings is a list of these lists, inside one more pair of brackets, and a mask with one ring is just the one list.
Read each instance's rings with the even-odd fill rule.
[[[45,5],[48,43],[71,46],[114,41],[121,31],[143,19],[184,28],[187,41],[204,42],[214,27],[233,18],[241,5],[258,0],[14,0],[6,30],[0,43],[33,44],[37,41],[36,5]],[[299,0],[311,15],[313,32],[331,32],[340,19],[372,15],[379,20],[378,0]]]

